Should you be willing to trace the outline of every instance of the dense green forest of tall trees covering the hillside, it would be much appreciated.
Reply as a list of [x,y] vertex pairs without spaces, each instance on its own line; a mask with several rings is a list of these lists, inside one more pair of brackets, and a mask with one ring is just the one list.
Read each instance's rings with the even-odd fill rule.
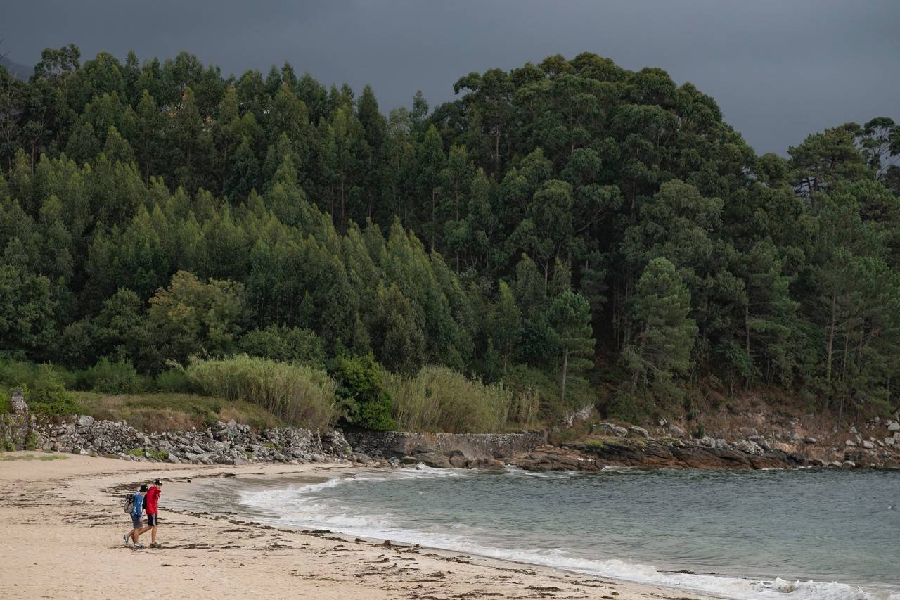
[[688,386],[898,404],[893,121],[785,159],[695,86],[590,53],[453,88],[385,115],[288,63],[0,68],[0,356],[327,368],[369,382],[345,418],[379,428],[379,382],[428,368],[626,418]]

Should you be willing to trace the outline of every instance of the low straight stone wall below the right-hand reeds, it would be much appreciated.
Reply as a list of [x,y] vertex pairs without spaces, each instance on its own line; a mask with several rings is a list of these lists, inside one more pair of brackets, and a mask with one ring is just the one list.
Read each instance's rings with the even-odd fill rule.
[[428,453],[461,454],[466,459],[498,459],[534,450],[547,442],[545,432],[523,433],[418,433],[345,432],[357,452],[377,457],[416,456]]

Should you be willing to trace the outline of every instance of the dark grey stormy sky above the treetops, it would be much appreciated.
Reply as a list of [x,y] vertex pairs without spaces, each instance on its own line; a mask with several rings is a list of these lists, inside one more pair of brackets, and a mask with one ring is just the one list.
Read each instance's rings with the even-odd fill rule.
[[432,106],[470,71],[590,51],[669,71],[718,101],[758,151],[874,116],[900,121],[900,2],[4,2],[0,52],[34,64],[76,43],[82,59],[180,50],[227,73],[290,60],[321,82],[374,87],[383,111],[421,89]]

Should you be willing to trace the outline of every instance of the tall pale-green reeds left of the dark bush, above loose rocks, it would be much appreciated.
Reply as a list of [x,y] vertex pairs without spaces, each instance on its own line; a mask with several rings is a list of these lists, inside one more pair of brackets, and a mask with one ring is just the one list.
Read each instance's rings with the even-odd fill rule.
[[246,400],[286,423],[320,429],[338,418],[335,383],[320,369],[242,354],[195,360],[186,373],[204,394]]

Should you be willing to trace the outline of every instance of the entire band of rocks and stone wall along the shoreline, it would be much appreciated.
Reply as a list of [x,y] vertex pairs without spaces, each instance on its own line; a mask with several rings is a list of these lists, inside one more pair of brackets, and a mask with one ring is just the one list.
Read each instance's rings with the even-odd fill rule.
[[[96,421],[74,415],[58,422],[29,414],[14,397],[15,414],[0,419],[2,450],[48,450],[132,461],[244,465],[257,462],[305,463],[346,460],[367,466],[425,464],[432,468],[505,468],[529,471],[598,471],[636,468],[898,468],[900,422],[865,423],[842,444],[796,432],[770,436],[752,432],[726,441],[685,435],[660,423],[653,435],[643,427],[594,423],[588,441],[548,443],[545,432],[452,434],[428,432],[313,432],[284,427],[254,432],[246,424],[217,422],[205,430],[139,432],[125,422]],[[883,430],[883,434],[881,434]],[[831,447],[835,446],[836,447]]]

